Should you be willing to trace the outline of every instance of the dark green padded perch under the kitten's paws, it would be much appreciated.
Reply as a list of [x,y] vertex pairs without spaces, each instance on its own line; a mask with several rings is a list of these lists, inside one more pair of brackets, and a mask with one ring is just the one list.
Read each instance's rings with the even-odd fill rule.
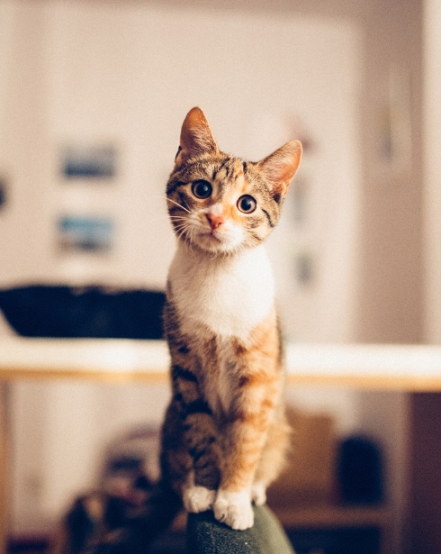
[[281,524],[267,506],[254,508],[254,525],[234,531],[212,512],[189,513],[188,549],[192,554],[294,554]]

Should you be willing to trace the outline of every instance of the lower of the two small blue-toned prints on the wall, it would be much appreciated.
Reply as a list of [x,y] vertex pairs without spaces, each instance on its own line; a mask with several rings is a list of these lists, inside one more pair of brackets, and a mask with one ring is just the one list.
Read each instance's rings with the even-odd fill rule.
[[58,249],[62,252],[107,253],[114,242],[114,223],[108,217],[65,215],[58,219]]

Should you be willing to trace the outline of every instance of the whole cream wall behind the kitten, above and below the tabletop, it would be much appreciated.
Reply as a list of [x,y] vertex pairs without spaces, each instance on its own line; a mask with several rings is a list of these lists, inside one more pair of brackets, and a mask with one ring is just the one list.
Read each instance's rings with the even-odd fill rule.
[[[412,96],[414,142],[404,172],[379,169],[376,117],[378,91],[392,65],[410,76],[418,93],[412,79],[418,78],[419,9],[418,0],[280,0],[270,6],[260,0],[4,0],[0,173],[10,177],[11,189],[0,212],[0,285],[34,279],[162,287],[173,250],[163,186],[184,114],[201,104],[225,150],[265,155],[291,139],[293,129],[304,131],[302,124],[318,146],[305,155],[299,175],[311,184],[309,223],[293,225],[288,198],[271,249],[288,333],[314,341],[418,341],[418,94]],[[76,140],[117,144],[121,170],[112,184],[62,182],[59,148]],[[110,258],[55,254],[54,219],[67,208],[115,214],[119,240]],[[316,260],[313,286],[293,280],[293,258],[303,250]],[[57,486],[48,488],[50,463],[74,448],[60,429],[84,413],[102,413],[96,404],[110,394],[46,387],[14,389],[17,524],[31,522],[30,497],[40,505],[40,520],[50,518],[62,497],[83,485],[85,475],[76,472],[67,480],[59,474]],[[152,394],[139,393],[143,400],[134,404],[131,421],[144,417],[143,402],[148,405]],[[299,390],[293,396],[336,413],[341,431],[373,431],[391,467],[402,469],[401,395]],[[39,427],[49,413],[41,404],[50,397],[59,410],[55,422],[45,423],[51,433]],[[114,429],[119,422],[112,418]],[[24,439],[26,425],[35,429],[31,441]],[[78,434],[74,458],[101,440],[92,428]],[[94,467],[92,458],[82,459]],[[396,492],[402,473],[391,475],[392,501],[402,504]]]

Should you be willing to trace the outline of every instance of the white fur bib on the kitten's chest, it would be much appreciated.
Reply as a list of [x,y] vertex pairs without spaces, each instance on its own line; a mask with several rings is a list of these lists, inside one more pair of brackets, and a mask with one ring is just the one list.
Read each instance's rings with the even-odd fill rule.
[[246,340],[274,304],[273,273],[263,246],[212,257],[180,243],[168,277],[185,333],[202,323],[217,335]]

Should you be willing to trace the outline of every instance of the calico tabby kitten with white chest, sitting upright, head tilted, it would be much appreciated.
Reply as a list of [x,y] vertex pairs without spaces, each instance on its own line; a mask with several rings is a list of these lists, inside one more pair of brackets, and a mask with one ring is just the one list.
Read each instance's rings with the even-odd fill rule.
[[172,399],[163,482],[188,512],[233,529],[284,464],[289,427],[274,282],[263,242],[302,157],[300,141],[258,162],[221,152],[202,110],[185,117],[166,185],[177,237],[164,325]]

